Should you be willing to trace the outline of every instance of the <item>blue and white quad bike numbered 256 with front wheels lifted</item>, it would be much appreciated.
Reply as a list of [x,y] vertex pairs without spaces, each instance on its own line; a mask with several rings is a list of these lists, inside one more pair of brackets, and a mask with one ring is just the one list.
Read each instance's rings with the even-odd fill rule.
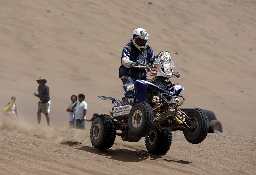
[[98,115],[92,122],[92,145],[104,150],[113,146],[116,135],[129,142],[137,142],[145,137],[149,153],[164,155],[171,146],[172,128],[177,126],[183,128],[188,142],[201,143],[209,130],[208,117],[198,108],[191,109],[187,114],[178,108],[185,100],[180,95],[184,88],[169,80],[171,77],[180,77],[180,73],[173,72],[171,54],[160,52],[153,64],[136,63],[138,67],[146,68],[154,78],[135,81],[133,106],[120,99],[98,96],[112,100],[115,107],[112,108],[113,116]]

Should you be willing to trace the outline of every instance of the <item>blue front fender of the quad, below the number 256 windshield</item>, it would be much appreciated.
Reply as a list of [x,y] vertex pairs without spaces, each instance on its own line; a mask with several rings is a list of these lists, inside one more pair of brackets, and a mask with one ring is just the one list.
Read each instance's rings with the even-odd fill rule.
[[174,95],[174,94],[179,95],[180,91],[182,91],[184,89],[183,86],[176,85],[176,88],[174,87],[174,91],[169,92],[169,91],[166,91],[163,88],[160,88],[159,86],[156,86],[155,84],[150,83],[148,81],[136,80],[134,83],[136,99],[138,99],[139,101],[146,101],[148,98],[148,87],[149,86],[154,86],[169,95]]

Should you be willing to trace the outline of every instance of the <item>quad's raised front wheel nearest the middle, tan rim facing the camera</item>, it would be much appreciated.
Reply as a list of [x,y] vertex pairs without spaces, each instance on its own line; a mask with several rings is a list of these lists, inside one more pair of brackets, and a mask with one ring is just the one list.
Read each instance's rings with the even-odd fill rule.
[[144,137],[151,130],[154,113],[152,107],[145,102],[136,103],[129,114],[128,125],[132,135]]

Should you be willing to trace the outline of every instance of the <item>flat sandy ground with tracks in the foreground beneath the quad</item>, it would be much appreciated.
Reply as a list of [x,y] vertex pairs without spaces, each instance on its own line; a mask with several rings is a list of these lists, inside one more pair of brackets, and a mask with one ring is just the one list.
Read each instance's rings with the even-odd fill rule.
[[208,133],[197,145],[172,132],[166,155],[147,152],[145,139],[111,149],[92,147],[90,132],[13,124],[0,130],[1,174],[255,174],[256,136]]

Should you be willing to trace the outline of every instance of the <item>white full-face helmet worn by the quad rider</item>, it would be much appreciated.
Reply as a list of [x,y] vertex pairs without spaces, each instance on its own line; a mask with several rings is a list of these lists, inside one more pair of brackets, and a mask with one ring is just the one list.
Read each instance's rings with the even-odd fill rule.
[[[138,42],[138,39],[142,39],[144,41]],[[147,41],[149,40],[148,32],[143,28],[136,28],[132,32],[132,44],[140,51],[143,52],[146,48]]]

